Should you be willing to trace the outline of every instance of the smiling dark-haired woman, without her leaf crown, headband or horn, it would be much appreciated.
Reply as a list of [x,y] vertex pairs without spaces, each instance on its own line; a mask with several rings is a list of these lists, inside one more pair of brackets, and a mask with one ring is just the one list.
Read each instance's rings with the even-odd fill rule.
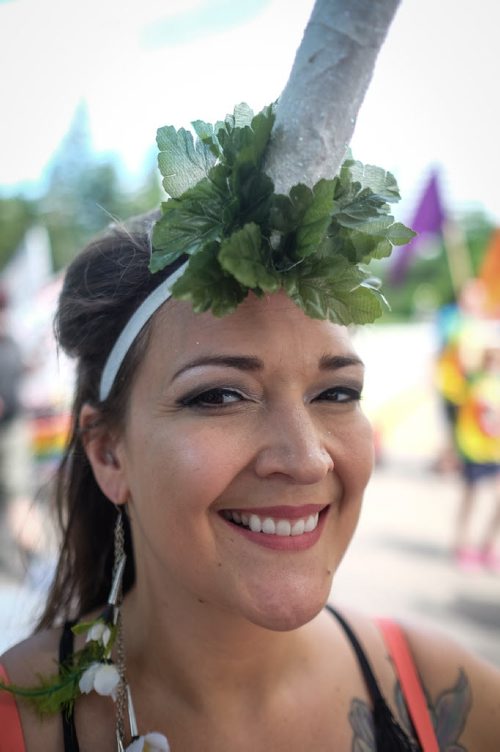
[[1,695],[0,749],[494,750],[492,669],[406,629],[448,734],[426,746],[376,623],[324,610],[372,468],[346,327],[284,290],[223,317],[167,293],[100,398],[112,343],[184,263],[149,272],[156,219],[111,228],[66,275],[64,540],[36,635],[3,657],[19,699]]

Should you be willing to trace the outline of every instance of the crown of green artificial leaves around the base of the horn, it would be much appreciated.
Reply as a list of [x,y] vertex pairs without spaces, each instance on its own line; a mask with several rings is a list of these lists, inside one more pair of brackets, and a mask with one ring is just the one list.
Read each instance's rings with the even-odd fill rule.
[[274,105],[254,115],[240,104],[215,125],[194,121],[196,139],[184,128],[158,130],[171,198],[153,229],[150,270],[188,255],[172,295],[195,312],[223,316],[250,290],[282,289],[312,318],[371,322],[385,298],[365,265],[415,234],[390,214],[396,180],[348,158],[331,180],[276,194],[263,171],[274,119]]

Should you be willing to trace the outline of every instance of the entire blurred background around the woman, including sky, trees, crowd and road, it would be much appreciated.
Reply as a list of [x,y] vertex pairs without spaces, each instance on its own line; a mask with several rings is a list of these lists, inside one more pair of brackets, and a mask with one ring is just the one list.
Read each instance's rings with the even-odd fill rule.
[[[312,6],[0,0],[0,650],[32,628],[53,567],[65,266],[162,199],[156,128],[279,96]],[[396,219],[419,235],[378,263],[391,311],[354,335],[377,463],[332,593],[498,665],[499,21],[495,0],[402,0],[358,117],[355,158],[396,175]]]

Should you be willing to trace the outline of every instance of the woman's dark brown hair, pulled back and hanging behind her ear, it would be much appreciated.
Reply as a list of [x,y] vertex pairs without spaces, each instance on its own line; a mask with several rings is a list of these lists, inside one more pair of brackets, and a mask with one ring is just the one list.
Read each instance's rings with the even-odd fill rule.
[[[151,274],[150,234],[156,213],[112,226],[69,266],[55,319],[60,347],[76,359],[72,427],[57,471],[55,501],[62,543],[56,573],[37,630],[79,618],[106,602],[113,564],[117,512],[97,485],[78,427],[82,406],[98,407],[100,422],[120,429],[134,374],[144,356],[146,324],[124,359],[109,397],[99,402],[101,373],[120,332],[146,296],[184,259]],[[134,559],[126,515],[124,592],[134,582]]]

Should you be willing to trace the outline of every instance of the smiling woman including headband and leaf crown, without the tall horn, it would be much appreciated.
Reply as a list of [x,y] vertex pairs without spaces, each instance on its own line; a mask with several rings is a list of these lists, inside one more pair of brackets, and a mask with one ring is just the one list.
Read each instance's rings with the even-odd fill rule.
[[275,192],[273,123],[161,129],[161,214],[67,270],[62,545],[0,664],[0,752],[498,749],[498,672],[326,607],[373,461],[347,327],[412,233],[393,176],[350,158]]

